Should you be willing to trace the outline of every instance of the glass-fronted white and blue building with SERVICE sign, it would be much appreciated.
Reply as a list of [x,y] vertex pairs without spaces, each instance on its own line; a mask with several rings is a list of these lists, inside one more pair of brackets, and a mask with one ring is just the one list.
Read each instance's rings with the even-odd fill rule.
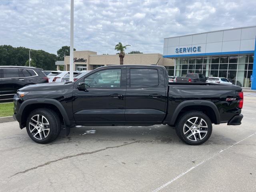
[[164,38],[164,58],[174,59],[174,74],[225,77],[256,89],[256,26]]

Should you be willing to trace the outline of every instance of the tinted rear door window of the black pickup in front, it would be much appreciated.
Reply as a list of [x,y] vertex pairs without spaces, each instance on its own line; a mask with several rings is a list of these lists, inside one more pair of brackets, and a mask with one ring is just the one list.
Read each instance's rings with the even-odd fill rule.
[[130,87],[143,88],[159,84],[156,69],[130,69]]

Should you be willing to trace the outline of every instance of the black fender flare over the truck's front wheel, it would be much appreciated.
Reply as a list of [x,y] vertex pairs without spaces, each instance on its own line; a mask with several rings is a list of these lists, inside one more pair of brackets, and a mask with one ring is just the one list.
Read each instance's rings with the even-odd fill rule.
[[22,115],[24,109],[26,108],[26,106],[30,105],[30,104],[38,104],[38,103],[43,103],[43,104],[52,104],[54,106],[56,106],[58,108],[58,110],[60,111],[60,114],[63,117],[64,120],[64,124],[66,126],[66,129],[70,127],[70,120],[68,118],[68,114],[66,112],[66,110],[64,109],[64,107],[62,106],[62,104],[55,99],[48,99],[48,98],[35,98],[35,99],[28,99],[25,100],[21,105],[20,108],[18,110],[18,114]]

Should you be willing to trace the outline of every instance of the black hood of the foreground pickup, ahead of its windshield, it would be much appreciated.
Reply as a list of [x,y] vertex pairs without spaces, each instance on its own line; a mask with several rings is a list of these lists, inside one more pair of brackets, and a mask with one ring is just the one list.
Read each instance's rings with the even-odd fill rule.
[[40,84],[34,84],[25,86],[23,88],[20,88],[20,91],[57,91],[66,89],[67,87],[73,88],[74,83],[73,82],[53,82],[53,83],[40,83]]

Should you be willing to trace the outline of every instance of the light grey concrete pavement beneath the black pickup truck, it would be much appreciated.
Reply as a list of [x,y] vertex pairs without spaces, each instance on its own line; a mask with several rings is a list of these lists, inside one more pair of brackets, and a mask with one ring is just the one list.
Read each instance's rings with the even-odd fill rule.
[[0,191],[256,191],[256,93],[244,92],[240,126],[213,125],[200,146],[168,125],[74,127],[50,144],[18,122],[0,124]]

